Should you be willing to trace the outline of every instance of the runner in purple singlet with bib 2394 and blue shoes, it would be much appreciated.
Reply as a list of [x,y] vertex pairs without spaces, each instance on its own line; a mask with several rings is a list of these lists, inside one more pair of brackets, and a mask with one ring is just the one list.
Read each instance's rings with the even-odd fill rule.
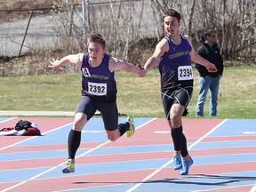
[[144,69],[159,68],[164,113],[172,132],[174,170],[180,170],[181,175],[187,175],[193,159],[188,154],[181,116],[193,92],[191,60],[203,65],[210,72],[217,69],[194,51],[190,37],[180,34],[179,28],[180,13],[172,9],[164,12],[166,36],[156,45],[156,50],[147,60]]

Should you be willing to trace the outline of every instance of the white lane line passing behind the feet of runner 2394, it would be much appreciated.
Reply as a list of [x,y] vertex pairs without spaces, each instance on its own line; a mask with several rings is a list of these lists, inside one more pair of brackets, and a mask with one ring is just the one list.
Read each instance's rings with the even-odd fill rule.
[[[207,132],[206,134],[204,134],[203,137],[201,137],[200,139],[196,140],[196,142],[192,143],[188,149],[193,148],[194,146],[196,146],[197,143],[199,143],[201,140],[204,140],[204,138],[206,138],[208,135],[210,135],[212,132],[214,132],[215,130],[217,130],[221,124],[224,124],[226,121],[228,121],[228,119],[225,119],[224,121],[222,121],[220,124],[218,124],[217,126],[215,126],[210,132]],[[156,169],[155,172],[152,172],[151,174],[149,174],[146,178],[144,178],[143,180],[140,181],[140,183],[137,183],[136,185],[134,185],[132,188],[129,188],[128,190],[126,190],[126,192],[132,192],[134,189],[139,188],[140,185],[143,184],[143,182],[145,182],[146,180],[149,180],[150,178],[152,178],[153,176],[155,176],[158,172],[162,171],[166,166],[168,166],[169,164],[172,164],[173,162],[173,158],[168,161],[167,163],[163,164],[160,168]]]

